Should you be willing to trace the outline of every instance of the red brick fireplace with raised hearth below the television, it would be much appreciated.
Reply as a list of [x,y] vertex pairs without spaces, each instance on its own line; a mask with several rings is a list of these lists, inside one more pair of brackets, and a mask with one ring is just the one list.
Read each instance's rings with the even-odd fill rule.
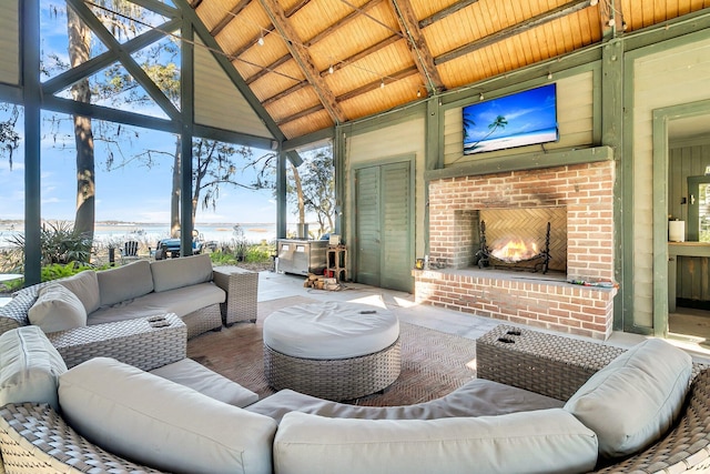
[[[613,161],[432,180],[430,269],[414,272],[416,301],[606,340],[616,290],[569,281],[613,280]],[[552,260],[565,265],[548,274],[474,265],[490,210],[561,210],[566,258]]]

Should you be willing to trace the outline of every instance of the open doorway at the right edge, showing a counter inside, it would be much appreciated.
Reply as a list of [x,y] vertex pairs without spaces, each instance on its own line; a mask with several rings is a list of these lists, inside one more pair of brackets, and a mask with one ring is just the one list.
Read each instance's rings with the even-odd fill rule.
[[[662,251],[668,261],[668,283],[659,285],[656,293],[668,292],[660,296],[665,299],[665,307],[656,304],[655,332],[710,349],[710,103],[702,101],[657,112],[653,153],[662,160],[655,162],[655,167],[666,163],[662,170],[666,203],[662,214],[655,212],[655,241],[659,242],[655,249],[657,255]],[[655,175],[661,178],[661,173]],[[684,223],[680,239],[677,225],[671,239],[668,219]],[[661,243],[662,238],[669,242]]]

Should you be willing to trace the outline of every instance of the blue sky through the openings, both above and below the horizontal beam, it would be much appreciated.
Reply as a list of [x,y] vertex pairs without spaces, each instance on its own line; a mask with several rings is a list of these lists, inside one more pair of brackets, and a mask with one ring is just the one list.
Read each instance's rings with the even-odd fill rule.
[[[68,62],[65,17],[61,11],[59,17],[49,14],[50,6],[61,3],[63,2],[49,0],[41,2],[42,51],[45,60],[51,53],[55,54],[60,61]],[[95,52],[102,50],[105,49],[99,47]],[[60,95],[67,97],[65,92],[60,92]],[[145,112],[145,110],[143,107],[142,111]],[[164,117],[162,111],[152,111],[149,114]],[[55,118],[60,119],[59,122],[53,121]],[[3,119],[0,112],[0,120]],[[22,119],[18,124],[18,132],[22,133]],[[175,148],[174,139],[168,133],[128,127],[123,127],[123,131],[120,149],[123,157],[114,150],[113,158],[114,162],[128,160],[130,163],[126,167],[111,172],[105,171],[104,163],[109,152],[102,143],[97,142],[95,145],[97,221],[166,223],[170,221],[171,157]],[[7,155],[0,155],[0,219],[23,219],[24,147],[22,141],[20,144],[21,148],[13,154],[12,171],[9,169]],[[140,160],[133,159],[144,149],[153,149],[164,154],[161,154],[156,164],[149,169]],[[264,150],[253,150],[253,152],[255,157],[265,153]],[[247,174],[241,181],[251,183],[252,178]],[[67,115],[44,112],[41,167],[43,219],[74,219],[75,183],[75,152],[70,120]],[[288,220],[292,220],[291,215]],[[216,209],[200,208],[196,221],[197,223],[275,222],[276,204],[270,190],[250,191],[222,186]]]

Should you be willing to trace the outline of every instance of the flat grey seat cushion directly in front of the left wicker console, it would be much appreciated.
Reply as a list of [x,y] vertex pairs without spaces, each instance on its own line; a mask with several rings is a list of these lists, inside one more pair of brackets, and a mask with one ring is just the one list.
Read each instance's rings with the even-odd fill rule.
[[244,389],[239,383],[232,382],[192,359],[183,359],[153,369],[151,373],[194,389],[211,399],[230,405],[247,406],[258,401],[258,395],[251,390]]

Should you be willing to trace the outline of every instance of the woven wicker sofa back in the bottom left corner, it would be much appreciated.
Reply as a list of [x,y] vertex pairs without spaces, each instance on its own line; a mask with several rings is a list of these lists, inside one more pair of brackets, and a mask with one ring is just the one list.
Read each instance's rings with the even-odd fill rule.
[[158,473],[89,443],[49,405],[6,405],[0,448],[8,474]]

